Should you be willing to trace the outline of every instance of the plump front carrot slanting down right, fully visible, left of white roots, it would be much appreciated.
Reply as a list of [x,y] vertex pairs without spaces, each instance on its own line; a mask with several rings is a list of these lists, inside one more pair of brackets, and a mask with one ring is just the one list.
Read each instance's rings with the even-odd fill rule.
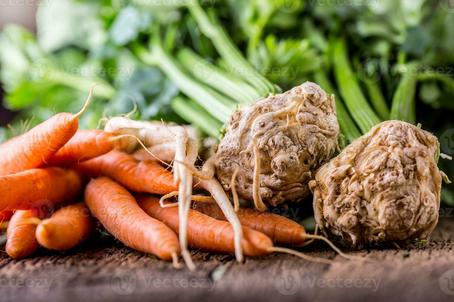
[[85,202],[106,230],[121,242],[175,263],[180,251],[177,235],[149,217],[117,182],[108,177],[92,179],[85,188]]

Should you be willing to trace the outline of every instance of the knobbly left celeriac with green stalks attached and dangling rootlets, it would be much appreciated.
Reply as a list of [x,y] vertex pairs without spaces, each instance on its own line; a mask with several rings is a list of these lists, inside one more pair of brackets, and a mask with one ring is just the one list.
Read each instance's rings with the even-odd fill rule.
[[334,96],[306,82],[232,114],[217,147],[217,177],[228,190],[239,167],[237,192],[252,199],[256,142],[263,201],[299,201],[309,194],[313,173],[334,153],[338,136]]

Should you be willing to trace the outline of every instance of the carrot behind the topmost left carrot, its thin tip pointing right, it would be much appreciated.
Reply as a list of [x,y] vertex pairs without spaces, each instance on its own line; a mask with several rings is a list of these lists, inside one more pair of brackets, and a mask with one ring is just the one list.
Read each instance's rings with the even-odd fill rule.
[[50,158],[48,166],[68,165],[95,158],[111,151],[115,134],[103,130],[78,130],[61,149]]

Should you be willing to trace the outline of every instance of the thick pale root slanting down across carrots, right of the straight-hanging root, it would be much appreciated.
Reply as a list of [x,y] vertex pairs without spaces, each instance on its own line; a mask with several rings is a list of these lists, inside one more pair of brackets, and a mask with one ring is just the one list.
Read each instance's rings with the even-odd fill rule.
[[243,238],[243,229],[238,219],[237,214],[233,210],[233,206],[228,199],[226,192],[222,188],[221,184],[216,178],[200,182],[200,186],[210,192],[214,200],[216,200],[218,206],[221,208],[222,213],[226,216],[228,222],[232,225],[234,233],[234,246],[235,246],[235,257],[238,262],[243,262],[243,249],[241,240]]

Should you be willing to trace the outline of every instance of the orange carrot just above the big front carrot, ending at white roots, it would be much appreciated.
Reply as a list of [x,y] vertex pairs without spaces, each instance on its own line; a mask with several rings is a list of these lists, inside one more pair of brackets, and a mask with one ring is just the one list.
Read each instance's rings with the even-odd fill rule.
[[134,192],[163,195],[177,190],[172,173],[154,161],[139,162],[129,154],[111,151],[84,161],[78,167],[89,177],[112,177]]

